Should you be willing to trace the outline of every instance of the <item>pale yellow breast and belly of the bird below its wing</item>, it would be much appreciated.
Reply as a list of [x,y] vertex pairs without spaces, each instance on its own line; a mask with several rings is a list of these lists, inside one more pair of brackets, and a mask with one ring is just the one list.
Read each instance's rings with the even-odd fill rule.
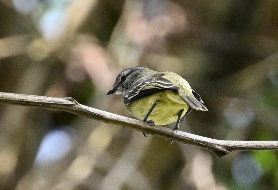
[[153,103],[157,103],[148,120],[153,120],[155,125],[167,125],[176,122],[178,112],[184,109],[182,117],[189,109],[176,92],[171,90],[158,92],[150,96],[138,99],[126,106],[126,109],[136,118],[143,120]]

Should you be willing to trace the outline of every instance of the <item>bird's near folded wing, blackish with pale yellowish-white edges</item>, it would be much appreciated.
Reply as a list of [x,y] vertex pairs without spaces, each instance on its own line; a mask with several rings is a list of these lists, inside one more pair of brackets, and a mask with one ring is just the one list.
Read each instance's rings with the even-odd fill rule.
[[177,89],[179,89],[179,87],[174,86],[171,81],[163,77],[147,79],[135,85],[126,92],[124,97],[124,103],[129,104],[135,100],[138,100],[145,96],[150,96],[157,92]]

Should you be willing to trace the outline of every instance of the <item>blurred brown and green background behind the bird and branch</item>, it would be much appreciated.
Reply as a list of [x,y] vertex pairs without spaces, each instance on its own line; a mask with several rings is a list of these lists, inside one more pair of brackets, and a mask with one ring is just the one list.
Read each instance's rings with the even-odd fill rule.
[[[277,12],[274,0],[0,0],[0,91],[130,117],[121,96],[105,94],[121,70],[145,65],[202,96],[209,111],[180,130],[278,140]],[[0,106],[0,189],[278,189],[276,151],[218,159],[68,113]]]

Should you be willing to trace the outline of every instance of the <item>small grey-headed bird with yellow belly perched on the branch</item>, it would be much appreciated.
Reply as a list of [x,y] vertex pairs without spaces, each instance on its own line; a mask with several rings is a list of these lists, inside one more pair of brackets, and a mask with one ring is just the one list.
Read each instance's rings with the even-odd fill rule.
[[114,93],[124,95],[126,109],[136,118],[153,125],[177,122],[175,131],[178,131],[181,118],[192,109],[208,110],[200,95],[180,75],[142,66],[123,70],[107,95]]

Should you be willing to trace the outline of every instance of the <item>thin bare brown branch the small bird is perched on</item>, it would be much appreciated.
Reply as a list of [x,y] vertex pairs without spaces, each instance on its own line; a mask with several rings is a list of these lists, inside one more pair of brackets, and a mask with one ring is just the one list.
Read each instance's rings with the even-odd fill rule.
[[84,106],[73,98],[51,98],[46,96],[0,92],[0,103],[66,111],[78,116],[132,128],[136,131],[157,135],[180,143],[195,145],[215,153],[218,157],[223,157],[234,150],[278,150],[278,141],[216,140],[183,131],[175,132],[166,127],[153,127],[152,124],[143,121]]

